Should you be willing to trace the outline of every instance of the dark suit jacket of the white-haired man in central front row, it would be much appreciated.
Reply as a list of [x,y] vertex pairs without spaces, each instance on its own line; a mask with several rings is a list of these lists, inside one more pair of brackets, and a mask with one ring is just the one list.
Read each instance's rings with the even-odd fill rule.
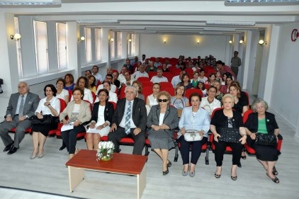
[[[115,123],[117,126],[124,117],[125,101],[126,98],[122,98],[118,101],[113,114],[112,123]],[[147,126],[147,109],[145,108],[145,101],[140,98],[135,98],[133,101],[132,120],[136,127],[145,130],[145,127]]]

